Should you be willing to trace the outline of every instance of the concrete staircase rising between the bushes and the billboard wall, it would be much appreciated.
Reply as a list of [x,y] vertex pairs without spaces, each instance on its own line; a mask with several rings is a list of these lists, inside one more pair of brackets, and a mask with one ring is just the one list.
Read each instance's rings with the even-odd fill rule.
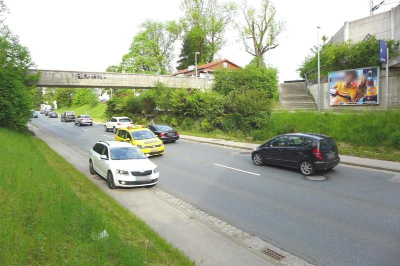
[[281,108],[285,110],[314,110],[314,99],[303,81],[279,84]]

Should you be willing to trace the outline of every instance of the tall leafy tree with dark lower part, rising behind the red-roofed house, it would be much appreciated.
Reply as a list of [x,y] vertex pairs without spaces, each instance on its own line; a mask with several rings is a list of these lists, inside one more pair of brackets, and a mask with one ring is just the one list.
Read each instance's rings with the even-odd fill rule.
[[223,34],[232,22],[236,6],[218,0],[183,0],[180,8],[185,15],[180,20],[184,35],[177,69],[194,65],[195,52],[199,52],[198,64],[214,61],[225,44]]

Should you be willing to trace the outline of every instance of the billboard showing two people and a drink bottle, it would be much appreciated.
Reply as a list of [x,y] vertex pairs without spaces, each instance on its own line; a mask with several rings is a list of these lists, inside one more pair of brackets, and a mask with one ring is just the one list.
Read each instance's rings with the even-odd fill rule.
[[379,67],[328,73],[329,104],[379,104]]

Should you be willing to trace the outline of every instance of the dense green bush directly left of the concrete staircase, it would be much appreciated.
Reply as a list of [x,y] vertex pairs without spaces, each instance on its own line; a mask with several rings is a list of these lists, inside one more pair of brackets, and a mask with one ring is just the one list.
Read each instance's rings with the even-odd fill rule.
[[277,70],[247,65],[244,69],[220,69],[214,74],[212,90],[227,95],[243,88],[262,90],[271,99],[277,92]]

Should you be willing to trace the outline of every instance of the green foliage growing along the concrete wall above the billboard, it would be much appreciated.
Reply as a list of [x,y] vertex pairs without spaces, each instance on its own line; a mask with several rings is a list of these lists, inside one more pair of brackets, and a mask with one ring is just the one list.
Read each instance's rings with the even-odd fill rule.
[[[386,42],[389,48],[389,57],[396,56],[395,50],[398,48],[399,43],[394,40]],[[380,65],[378,47],[379,42],[375,36],[372,36],[367,41],[358,43],[348,41],[322,45],[319,51],[319,61],[320,65],[325,65],[325,67],[321,75],[327,75],[327,72],[335,70],[378,66]],[[311,49],[311,53],[298,69],[301,78],[304,78],[306,72],[317,68],[316,47]]]

